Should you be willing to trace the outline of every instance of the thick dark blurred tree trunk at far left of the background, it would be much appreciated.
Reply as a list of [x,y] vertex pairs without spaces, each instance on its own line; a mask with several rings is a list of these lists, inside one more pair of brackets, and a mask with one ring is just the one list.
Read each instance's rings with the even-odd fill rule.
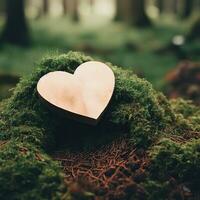
[[29,44],[24,8],[24,0],[6,0],[6,23],[1,35],[2,42],[16,45]]

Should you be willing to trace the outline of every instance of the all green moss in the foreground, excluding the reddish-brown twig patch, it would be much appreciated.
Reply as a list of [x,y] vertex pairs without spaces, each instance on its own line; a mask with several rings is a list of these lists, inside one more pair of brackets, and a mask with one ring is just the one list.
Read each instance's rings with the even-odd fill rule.
[[[174,167],[174,172],[180,173],[177,180],[188,181],[191,190],[195,190],[193,180],[185,176],[200,175],[197,166],[200,143],[195,139],[199,138],[200,131],[198,107],[182,100],[169,102],[149,82],[112,64],[109,66],[116,77],[115,91],[96,127],[61,120],[41,104],[36,91],[41,76],[55,70],[73,73],[80,64],[90,60],[91,57],[76,52],[47,57],[37,64],[33,74],[20,81],[12,97],[1,103],[0,140],[8,141],[0,147],[2,199],[61,199],[63,195],[65,199],[70,198],[63,190],[64,179],[60,175],[59,165],[45,153],[50,154],[60,146],[68,150],[92,150],[121,136],[128,137],[137,149],[150,151],[153,164],[152,168],[147,169],[149,176],[143,183],[149,199],[160,192],[163,199],[168,195],[163,192],[166,191],[163,184],[168,177],[155,177],[154,169],[160,170],[158,174],[167,174]],[[197,133],[195,137],[194,132]],[[184,138],[187,135],[190,135],[184,144],[187,148],[171,139],[168,139],[169,145],[159,143],[163,138]],[[194,140],[188,143],[191,138]],[[161,147],[157,148],[155,144]],[[27,149],[25,153],[20,151],[24,146]],[[163,149],[167,151],[169,159],[160,162]],[[180,151],[174,160],[173,155],[177,149]],[[38,152],[39,159],[35,152]],[[185,155],[186,160],[182,159]],[[25,187],[23,180],[30,184]],[[5,187],[4,182],[10,187]],[[157,189],[152,193],[155,187]],[[5,194],[9,196],[5,198]],[[136,195],[135,198],[139,197]]]

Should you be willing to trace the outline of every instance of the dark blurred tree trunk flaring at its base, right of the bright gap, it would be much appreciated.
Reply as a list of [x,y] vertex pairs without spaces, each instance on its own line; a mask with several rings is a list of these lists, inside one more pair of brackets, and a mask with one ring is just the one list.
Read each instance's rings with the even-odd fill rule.
[[147,27],[151,22],[145,12],[145,0],[131,0],[131,23],[138,27]]

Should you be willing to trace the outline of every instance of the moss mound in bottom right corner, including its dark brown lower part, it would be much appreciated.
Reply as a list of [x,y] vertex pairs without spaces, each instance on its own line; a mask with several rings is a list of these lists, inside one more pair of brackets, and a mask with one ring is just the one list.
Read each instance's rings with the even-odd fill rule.
[[146,199],[198,199],[200,139],[180,144],[162,139],[151,149]]

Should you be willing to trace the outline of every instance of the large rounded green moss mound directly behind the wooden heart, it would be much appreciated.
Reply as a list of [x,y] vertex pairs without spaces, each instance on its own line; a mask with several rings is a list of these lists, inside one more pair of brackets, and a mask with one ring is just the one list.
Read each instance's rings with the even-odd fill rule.
[[[47,138],[55,137],[61,125],[60,121],[52,116],[40,103],[36,91],[36,84],[39,78],[55,70],[73,73],[81,63],[90,60],[92,58],[74,52],[43,59],[38,64],[35,72],[18,84],[14,95],[8,101],[1,117],[6,121],[6,128],[1,128],[2,132],[8,133],[9,136],[13,134],[9,133],[12,132],[13,126],[34,126],[43,132],[39,133],[38,131],[36,141],[43,141],[41,145],[46,145],[42,143]],[[167,125],[174,121],[175,116],[170,108],[170,104],[146,80],[140,79],[126,70],[110,66],[116,76],[116,87],[112,101],[101,123],[96,128],[87,127],[84,130],[88,133],[93,132],[93,135],[98,135],[99,132],[99,137],[104,135],[106,138],[107,132],[110,130],[109,127],[118,127],[118,129],[113,130],[114,133],[109,134],[115,135],[116,133],[118,135],[119,132],[121,134],[131,133],[135,143],[148,146],[158,134],[163,132]],[[65,124],[71,127],[71,121],[65,121]],[[79,132],[80,135],[83,135],[82,128],[81,126],[80,130],[76,129],[76,132]],[[75,131],[68,127],[65,127],[66,129],[70,129],[70,132]],[[19,128],[18,132],[20,132]],[[22,132],[21,135],[24,135],[24,128]],[[150,132],[151,134],[148,134]],[[20,133],[17,135],[19,136]],[[41,140],[41,135],[45,138],[44,140]],[[35,137],[37,137],[37,134],[35,134]],[[89,141],[90,137],[86,138],[87,141],[83,138],[82,145],[80,146],[84,146],[86,143],[93,144],[93,141]],[[145,141],[141,142],[141,140]],[[48,142],[48,144],[51,144],[51,142]]]

